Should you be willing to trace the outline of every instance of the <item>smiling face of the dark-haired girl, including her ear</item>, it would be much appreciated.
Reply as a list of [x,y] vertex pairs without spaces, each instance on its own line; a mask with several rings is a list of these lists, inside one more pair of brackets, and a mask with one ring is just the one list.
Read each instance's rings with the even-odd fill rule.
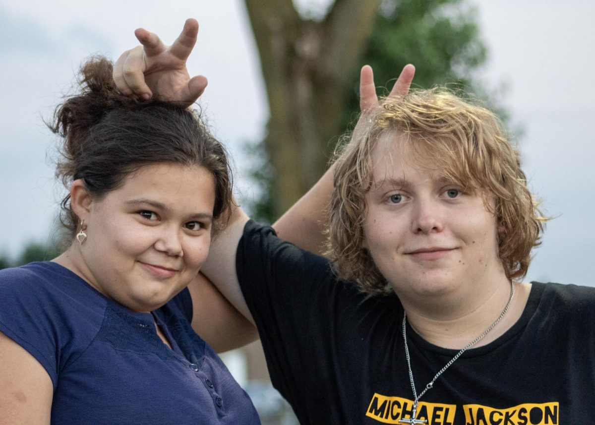
[[214,178],[205,168],[146,165],[107,195],[76,201],[87,239],[74,242],[81,259],[74,271],[130,310],[155,310],[205,261],[214,203]]

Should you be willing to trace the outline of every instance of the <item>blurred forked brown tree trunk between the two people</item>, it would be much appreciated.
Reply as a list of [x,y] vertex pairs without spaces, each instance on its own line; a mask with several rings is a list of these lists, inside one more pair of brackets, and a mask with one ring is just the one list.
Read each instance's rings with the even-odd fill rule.
[[322,175],[380,0],[336,0],[304,20],[291,0],[245,0],[270,106],[265,148],[279,216]]

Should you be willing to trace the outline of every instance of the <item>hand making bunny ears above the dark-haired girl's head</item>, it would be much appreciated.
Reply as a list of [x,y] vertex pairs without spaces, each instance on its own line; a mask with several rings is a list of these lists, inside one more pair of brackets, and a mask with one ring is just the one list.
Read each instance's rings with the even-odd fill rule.
[[190,77],[186,60],[198,35],[198,22],[188,19],[184,29],[171,46],[166,46],[152,32],[139,28],[134,32],[140,42],[124,52],[114,65],[114,82],[125,95],[145,99],[152,96],[192,105],[205,90],[202,75]]

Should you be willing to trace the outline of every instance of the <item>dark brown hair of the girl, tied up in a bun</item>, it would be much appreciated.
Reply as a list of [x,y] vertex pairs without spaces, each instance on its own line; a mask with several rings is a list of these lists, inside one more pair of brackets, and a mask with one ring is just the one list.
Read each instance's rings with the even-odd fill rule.
[[[112,70],[106,58],[90,58],[80,68],[76,95],[56,108],[48,124],[62,137],[56,177],[67,188],[82,179],[91,195],[102,196],[143,165],[198,165],[215,179],[214,218],[228,214],[231,173],[221,143],[181,105],[118,92]],[[62,200],[62,211],[62,223],[74,233],[79,220],[70,196]]]

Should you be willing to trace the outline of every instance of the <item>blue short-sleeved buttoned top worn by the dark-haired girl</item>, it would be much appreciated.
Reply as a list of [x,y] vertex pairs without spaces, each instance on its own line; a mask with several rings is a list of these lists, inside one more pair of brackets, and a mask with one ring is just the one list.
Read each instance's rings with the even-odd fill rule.
[[140,313],[55,262],[0,270],[0,332],[48,371],[52,424],[259,424],[191,320],[187,289]]

